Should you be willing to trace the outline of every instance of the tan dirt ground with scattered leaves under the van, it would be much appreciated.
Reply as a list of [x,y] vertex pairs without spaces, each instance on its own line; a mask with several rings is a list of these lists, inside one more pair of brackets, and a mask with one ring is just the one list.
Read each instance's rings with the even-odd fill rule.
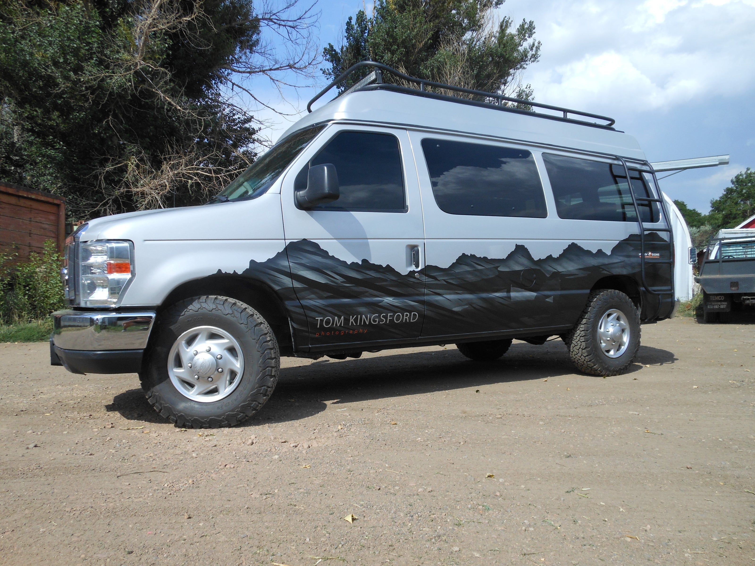
[[646,325],[607,379],[560,340],[285,358],[259,414],[208,431],[134,374],[0,344],[0,562],[753,564],[753,343]]

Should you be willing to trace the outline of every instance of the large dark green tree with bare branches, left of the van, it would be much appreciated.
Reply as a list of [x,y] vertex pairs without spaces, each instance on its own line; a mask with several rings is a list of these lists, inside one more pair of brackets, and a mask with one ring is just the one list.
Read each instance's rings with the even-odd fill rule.
[[0,0],[0,179],[77,220],[206,200],[260,141],[231,89],[316,60],[311,9],[285,2]]

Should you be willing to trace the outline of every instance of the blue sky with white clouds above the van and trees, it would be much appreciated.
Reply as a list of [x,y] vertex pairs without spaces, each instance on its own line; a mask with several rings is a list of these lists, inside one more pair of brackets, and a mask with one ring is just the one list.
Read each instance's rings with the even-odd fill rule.
[[[347,18],[364,5],[320,0],[321,48],[341,45]],[[535,21],[541,59],[522,82],[538,102],[612,116],[649,161],[731,155],[730,165],[661,180],[671,198],[705,213],[735,174],[755,169],[755,0],[507,0],[497,15]],[[292,116],[257,112],[270,139],[307,112],[327,84],[318,75],[317,85],[287,93]]]

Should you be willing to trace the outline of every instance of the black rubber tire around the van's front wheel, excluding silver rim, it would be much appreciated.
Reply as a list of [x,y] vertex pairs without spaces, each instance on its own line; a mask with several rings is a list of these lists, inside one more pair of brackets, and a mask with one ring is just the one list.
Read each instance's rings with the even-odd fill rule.
[[[174,341],[198,325],[212,325],[233,335],[244,355],[242,381],[219,401],[187,398],[168,375]],[[194,429],[234,426],[259,411],[273,394],[280,369],[278,341],[267,321],[251,306],[228,297],[193,297],[165,310],[153,332],[139,377],[149,404],[171,423]]]

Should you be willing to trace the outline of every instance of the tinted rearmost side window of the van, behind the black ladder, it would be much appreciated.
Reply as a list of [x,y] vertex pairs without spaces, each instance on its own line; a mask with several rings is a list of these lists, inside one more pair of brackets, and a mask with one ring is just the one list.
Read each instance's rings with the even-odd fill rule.
[[[572,220],[637,221],[623,167],[550,153],[543,154],[543,161],[559,217]],[[630,177],[635,196],[653,196],[639,171],[630,169]],[[643,222],[658,221],[658,207],[655,203],[653,206],[649,203],[640,204],[639,211]]]

